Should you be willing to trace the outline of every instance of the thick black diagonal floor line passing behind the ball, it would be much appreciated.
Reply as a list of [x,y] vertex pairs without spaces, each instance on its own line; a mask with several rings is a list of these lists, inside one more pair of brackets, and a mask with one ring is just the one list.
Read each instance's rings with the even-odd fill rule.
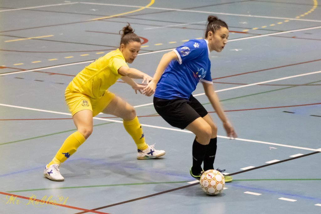
[[[319,151],[315,151],[315,152],[308,153],[308,154],[305,154],[305,155],[300,155],[298,157],[288,158],[288,159],[280,160],[280,161],[277,161],[277,162],[274,162],[274,163],[265,164],[265,165],[262,165],[262,166],[259,166],[259,167],[254,167],[254,168],[242,170],[242,171],[239,171],[239,172],[230,173],[229,175],[237,175],[237,174],[248,172],[248,171],[251,171],[251,170],[255,170],[255,169],[259,169],[259,168],[263,168],[263,167],[268,167],[268,166],[271,166],[271,165],[274,165],[274,164],[283,163],[283,162],[286,162],[286,161],[289,161],[289,160],[294,160],[294,159],[297,159],[297,158],[303,158],[303,157],[306,157],[306,156],[309,156],[309,155],[314,155],[314,154],[317,154],[317,153],[320,153],[320,152]],[[166,190],[166,191],[159,192],[159,193],[154,193],[154,194],[151,194],[151,195],[146,195],[146,196],[135,198],[135,199],[131,199],[131,200],[128,200],[128,201],[122,201],[122,202],[118,202],[118,203],[115,203],[115,204],[110,204],[110,205],[103,206],[103,207],[98,207],[98,208],[91,209],[91,210],[101,210],[101,209],[105,209],[105,208],[108,208],[108,207],[113,207],[113,206],[129,203],[129,202],[132,202],[132,201],[138,201],[138,200],[141,200],[141,199],[150,198],[150,197],[157,196],[157,195],[160,195],[160,194],[169,193],[169,192],[173,192],[173,191],[176,191],[176,190],[184,189],[184,188],[187,188],[187,187],[195,186],[197,184],[198,183],[189,184],[189,185],[186,185],[186,186],[181,186],[181,187],[178,187],[178,188]],[[87,212],[83,211],[83,212],[77,212],[75,214],[82,214],[82,213],[87,213]]]

